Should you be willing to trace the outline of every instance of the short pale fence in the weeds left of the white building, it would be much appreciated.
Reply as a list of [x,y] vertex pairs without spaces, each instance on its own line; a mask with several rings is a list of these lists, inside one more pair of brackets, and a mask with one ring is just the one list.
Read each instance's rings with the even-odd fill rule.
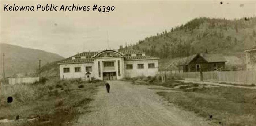
[[22,83],[34,83],[39,81],[39,77],[23,77],[23,78],[8,78],[9,84],[22,84]]

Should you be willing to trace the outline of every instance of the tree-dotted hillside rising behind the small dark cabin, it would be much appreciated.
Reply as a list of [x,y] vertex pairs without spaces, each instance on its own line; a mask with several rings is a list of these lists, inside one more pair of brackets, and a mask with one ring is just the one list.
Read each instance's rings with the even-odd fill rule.
[[199,52],[244,57],[243,50],[256,44],[256,17],[236,20],[196,18],[185,25],[146,37],[128,48],[162,59]]

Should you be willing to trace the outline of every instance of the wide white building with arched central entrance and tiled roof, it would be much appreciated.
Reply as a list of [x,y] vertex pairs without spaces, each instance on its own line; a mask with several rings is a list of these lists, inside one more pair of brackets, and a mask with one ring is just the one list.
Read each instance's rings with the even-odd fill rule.
[[115,80],[155,76],[158,73],[158,59],[133,49],[83,52],[59,62],[60,78]]

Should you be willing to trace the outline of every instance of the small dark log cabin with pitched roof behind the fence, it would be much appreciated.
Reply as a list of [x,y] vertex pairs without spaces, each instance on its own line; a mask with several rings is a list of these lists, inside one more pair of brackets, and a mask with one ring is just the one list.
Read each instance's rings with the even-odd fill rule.
[[178,69],[183,72],[204,72],[225,69],[225,58],[221,54],[198,53],[185,58]]

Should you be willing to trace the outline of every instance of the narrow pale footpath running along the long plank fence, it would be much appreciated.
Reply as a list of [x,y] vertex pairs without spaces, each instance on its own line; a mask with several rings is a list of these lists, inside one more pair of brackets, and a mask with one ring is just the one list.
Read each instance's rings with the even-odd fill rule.
[[193,80],[180,80],[180,81],[184,83],[199,83],[199,84],[207,84],[207,85],[219,85],[219,86],[226,86],[226,87],[256,89],[256,86],[239,86],[239,85],[221,84],[217,82],[193,81]]

